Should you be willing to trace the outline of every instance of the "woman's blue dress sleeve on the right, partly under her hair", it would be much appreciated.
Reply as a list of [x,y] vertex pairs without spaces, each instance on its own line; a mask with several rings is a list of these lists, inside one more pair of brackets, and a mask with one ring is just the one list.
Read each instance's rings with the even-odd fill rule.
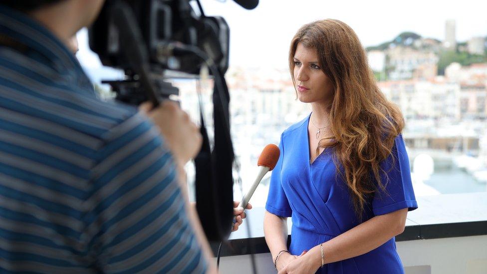
[[385,191],[379,188],[374,195],[374,215],[384,215],[404,208],[408,208],[408,211],[417,209],[409,157],[402,135],[394,140],[391,155],[381,163],[381,168],[384,171],[381,183],[385,186]]

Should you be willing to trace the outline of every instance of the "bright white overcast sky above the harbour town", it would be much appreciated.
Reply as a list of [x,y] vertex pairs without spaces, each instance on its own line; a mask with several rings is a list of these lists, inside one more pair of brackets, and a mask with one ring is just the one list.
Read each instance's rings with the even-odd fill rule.
[[[403,31],[440,40],[445,21],[455,19],[457,40],[487,35],[485,0],[260,0],[245,10],[232,0],[201,0],[206,15],[223,16],[231,30],[231,65],[286,67],[289,41],[303,24],[334,18],[349,24],[364,46],[393,39]],[[99,66],[88,52],[86,31],[78,33],[83,65]]]

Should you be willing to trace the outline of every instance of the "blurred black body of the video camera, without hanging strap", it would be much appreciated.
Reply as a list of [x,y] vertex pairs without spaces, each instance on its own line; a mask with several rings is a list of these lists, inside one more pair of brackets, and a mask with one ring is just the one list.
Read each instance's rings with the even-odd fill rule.
[[[90,28],[90,47],[103,65],[124,69],[131,75],[130,61],[122,52],[124,41],[114,23],[107,0]],[[147,61],[153,73],[175,70],[199,74],[202,60],[195,54],[172,50],[173,45],[192,45],[202,49],[225,73],[229,66],[230,29],[223,17],[210,17],[195,10],[189,0],[123,0],[140,27]],[[200,13],[200,14],[198,14]]]

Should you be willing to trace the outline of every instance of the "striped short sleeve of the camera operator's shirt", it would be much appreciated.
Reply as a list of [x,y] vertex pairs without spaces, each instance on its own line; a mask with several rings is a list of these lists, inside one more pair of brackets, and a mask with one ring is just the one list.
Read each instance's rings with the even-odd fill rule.
[[106,273],[204,273],[171,153],[142,115],[114,127],[93,169],[88,249]]

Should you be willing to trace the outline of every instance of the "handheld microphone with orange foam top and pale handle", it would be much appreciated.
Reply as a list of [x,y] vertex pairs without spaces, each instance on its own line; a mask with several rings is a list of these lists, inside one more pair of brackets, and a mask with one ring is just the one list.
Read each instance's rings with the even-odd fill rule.
[[[257,186],[262,180],[262,178],[264,177],[264,175],[267,172],[274,169],[275,165],[277,164],[277,160],[279,160],[279,154],[280,154],[279,147],[277,147],[274,144],[269,144],[264,147],[257,161],[257,166],[259,167],[257,178],[255,178],[255,181],[253,182],[252,186],[245,194],[245,196],[243,196],[242,201],[239,204],[239,207],[245,209],[245,207],[248,204],[248,201],[250,200],[253,193],[255,192],[255,189],[257,189]],[[235,222],[236,219],[234,217],[233,223],[235,224]]]

